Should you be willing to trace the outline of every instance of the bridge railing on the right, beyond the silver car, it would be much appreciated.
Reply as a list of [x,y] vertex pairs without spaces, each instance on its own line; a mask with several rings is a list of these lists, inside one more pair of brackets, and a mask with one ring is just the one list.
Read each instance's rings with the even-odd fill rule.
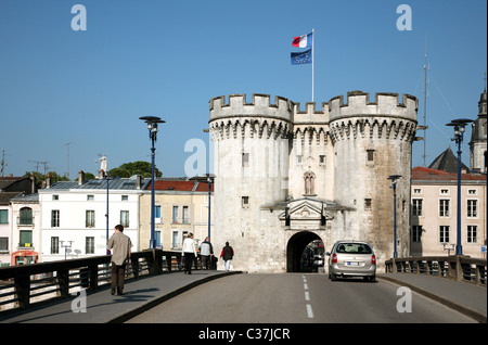
[[414,256],[386,260],[387,273],[416,273],[445,277],[486,288],[487,260],[463,255]]

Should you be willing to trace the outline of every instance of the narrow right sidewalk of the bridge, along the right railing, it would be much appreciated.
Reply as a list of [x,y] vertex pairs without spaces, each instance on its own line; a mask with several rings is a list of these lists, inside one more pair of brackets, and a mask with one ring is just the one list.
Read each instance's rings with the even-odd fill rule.
[[487,322],[487,288],[426,274],[381,273],[376,278],[410,288],[478,322]]

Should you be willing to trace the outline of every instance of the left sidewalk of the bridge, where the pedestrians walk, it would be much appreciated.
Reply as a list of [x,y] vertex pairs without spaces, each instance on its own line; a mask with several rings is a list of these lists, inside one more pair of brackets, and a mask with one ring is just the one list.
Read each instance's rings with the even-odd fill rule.
[[110,284],[106,288],[88,293],[86,312],[74,312],[80,309],[80,298],[72,298],[48,304],[8,316],[0,316],[0,323],[35,322],[35,323],[108,323],[125,320],[155,305],[181,294],[194,286],[221,277],[241,273],[241,271],[193,270],[192,274],[182,271],[142,277],[126,281],[124,295],[112,296]]

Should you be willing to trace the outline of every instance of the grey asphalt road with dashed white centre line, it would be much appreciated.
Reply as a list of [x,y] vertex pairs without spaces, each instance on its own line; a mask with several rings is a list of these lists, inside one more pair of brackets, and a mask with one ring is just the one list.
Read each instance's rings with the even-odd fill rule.
[[317,273],[236,274],[192,289],[128,322],[475,322],[399,288],[383,280],[373,283],[358,279],[332,282],[326,274]]

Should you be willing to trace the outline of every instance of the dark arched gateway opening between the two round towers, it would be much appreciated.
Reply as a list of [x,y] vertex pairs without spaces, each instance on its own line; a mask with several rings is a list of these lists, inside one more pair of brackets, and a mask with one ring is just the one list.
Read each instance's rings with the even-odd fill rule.
[[313,256],[323,258],[323,242],[319,235],[309,231],[295,233],[286,245],[286,271],[313,271]]

